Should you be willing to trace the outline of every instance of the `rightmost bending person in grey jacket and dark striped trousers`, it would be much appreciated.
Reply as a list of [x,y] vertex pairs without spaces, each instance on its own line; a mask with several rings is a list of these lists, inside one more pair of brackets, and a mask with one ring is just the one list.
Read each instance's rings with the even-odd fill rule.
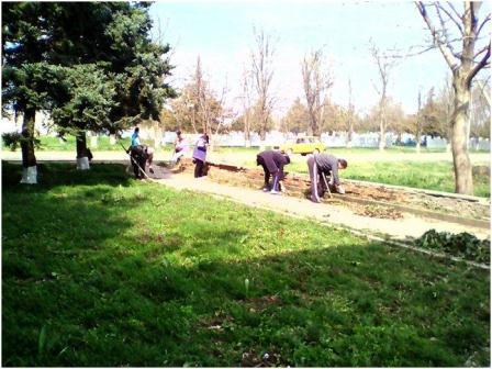
[[[308,168],[310,170],[311,200],[313,202],[321,202],[318,193],[320,183],[322,187],[322,192],[324,192],[322,174],[325,174],[325,176],[331,176],[331,182],[335,185],[335,189],[338,193],[345,193],[338,178],[338,169],[347,168],[347,160],[338,159],[328,154],[314,154],[308,158]],[[321,193],[321,195],[323,195],[323,193]]]

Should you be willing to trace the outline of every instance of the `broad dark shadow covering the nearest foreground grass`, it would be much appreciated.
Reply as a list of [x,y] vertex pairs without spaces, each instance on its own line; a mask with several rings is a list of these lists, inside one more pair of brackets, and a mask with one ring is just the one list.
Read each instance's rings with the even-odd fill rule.
[[189,266],[171,254],[55,255],[30,276],[26,299],[9,260],[3,364],[462,366],[488,347],[488,284],[473,287],[476,270],[379,245]]

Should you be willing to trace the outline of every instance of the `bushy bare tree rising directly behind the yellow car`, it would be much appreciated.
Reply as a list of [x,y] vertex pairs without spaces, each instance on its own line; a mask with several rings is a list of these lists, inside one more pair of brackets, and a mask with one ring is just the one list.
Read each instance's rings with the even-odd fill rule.
[[323,70],[323,64],[321,49],[311,52],[302,60],[304,94],[310,116],[310,128],[314,136],[320,136],[323,102],[326,101],[326,93],[333,85],[328,72]]

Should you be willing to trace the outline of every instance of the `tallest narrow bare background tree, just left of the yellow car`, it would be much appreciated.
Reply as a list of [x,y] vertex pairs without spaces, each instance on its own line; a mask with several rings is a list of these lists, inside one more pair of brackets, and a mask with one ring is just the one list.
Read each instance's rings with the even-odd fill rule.
[[256,32],[254,29],[256,48],[251,51],[251,74],[254,88],[256,90],[256,108],[259,119],[259,136],[265,141],[267,133],[268,119],[273,108],[273,98],[271,96],[271,80],[273,78],[273,45],[271,37],[261,30]]

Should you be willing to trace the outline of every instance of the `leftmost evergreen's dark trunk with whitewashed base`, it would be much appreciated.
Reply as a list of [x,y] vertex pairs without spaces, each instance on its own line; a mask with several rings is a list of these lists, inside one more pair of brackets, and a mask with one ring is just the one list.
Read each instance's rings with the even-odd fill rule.
[[35,109],[24,111],[22,123],[22,179],[21,183],[37,183],[36,156],[34,155],[34,122],[36,118]]

